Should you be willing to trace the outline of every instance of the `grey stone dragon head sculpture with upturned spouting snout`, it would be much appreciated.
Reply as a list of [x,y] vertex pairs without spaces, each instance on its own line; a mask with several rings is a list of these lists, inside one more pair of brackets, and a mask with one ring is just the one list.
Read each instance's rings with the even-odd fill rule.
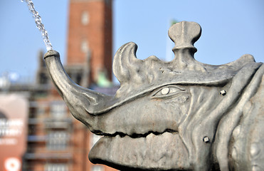
[[120,170],[264,170],[263,63],[244,55],[221,66],[194,59],[201,27],[169,29],[175,58],[136,58],[127,43],[116,53],[115,96],[81,88],[56,51],[45,55],[51,79],[75,118],[97,135],[94,163]]

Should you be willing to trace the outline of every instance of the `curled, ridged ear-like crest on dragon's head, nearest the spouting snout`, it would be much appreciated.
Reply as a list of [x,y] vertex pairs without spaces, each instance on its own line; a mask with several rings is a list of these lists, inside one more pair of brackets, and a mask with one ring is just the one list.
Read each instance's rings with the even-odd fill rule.
[[115,53],[113,72],[120,83],[128,83],[137,77],[142,61],[136,56],[137,44],[130,42],[123,45]]

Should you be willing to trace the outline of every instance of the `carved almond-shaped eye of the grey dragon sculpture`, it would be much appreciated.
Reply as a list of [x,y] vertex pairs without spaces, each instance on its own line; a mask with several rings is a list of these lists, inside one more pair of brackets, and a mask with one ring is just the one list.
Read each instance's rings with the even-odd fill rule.
[[183,92],[186,92],[186,90],[179,88],[178,86],[166,86],[155,92],[154,95],[152,95],[152,98],[169,98]]

